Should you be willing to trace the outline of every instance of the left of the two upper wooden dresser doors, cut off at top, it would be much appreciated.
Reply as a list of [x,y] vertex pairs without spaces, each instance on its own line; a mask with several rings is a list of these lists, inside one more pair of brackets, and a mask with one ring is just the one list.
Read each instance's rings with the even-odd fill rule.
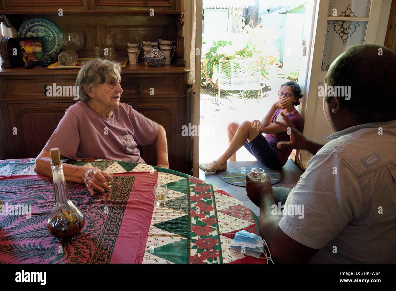
[[2,10],[8,11],[48,11],[87,10],[88,0],[1,0]]

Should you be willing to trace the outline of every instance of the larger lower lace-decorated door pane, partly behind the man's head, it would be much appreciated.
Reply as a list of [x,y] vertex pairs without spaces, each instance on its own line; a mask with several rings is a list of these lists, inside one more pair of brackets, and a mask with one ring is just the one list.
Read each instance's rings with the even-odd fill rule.
[[366,27],[367,21],[327,21],[321,70],[327,71],[348,46],[363,44]]

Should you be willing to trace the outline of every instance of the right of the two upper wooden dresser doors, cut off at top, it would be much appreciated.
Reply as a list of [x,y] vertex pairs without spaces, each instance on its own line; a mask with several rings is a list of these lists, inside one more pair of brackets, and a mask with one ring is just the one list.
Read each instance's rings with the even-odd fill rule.
[[90,0],[92,10],[142,10],[150,8],[158,11],[176,11],[180,9],[180,0]]

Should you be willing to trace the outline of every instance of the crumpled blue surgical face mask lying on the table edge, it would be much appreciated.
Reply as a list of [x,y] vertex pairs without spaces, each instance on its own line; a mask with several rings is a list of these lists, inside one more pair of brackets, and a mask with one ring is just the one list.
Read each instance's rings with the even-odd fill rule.
[[[237,249],[246,255],[250,255],[257,259],[267,259],[273,263],[271,259],[271,252],[268,249],[267,243],[257,234],[252,234],[246,230],[241,230],[235,234],[230,247],[232,249]],[[267,256],[265,247],[268,249],[268,253],[270,254],[269,257]],[[263,253],[265,253],[265,257],[260,257]]]

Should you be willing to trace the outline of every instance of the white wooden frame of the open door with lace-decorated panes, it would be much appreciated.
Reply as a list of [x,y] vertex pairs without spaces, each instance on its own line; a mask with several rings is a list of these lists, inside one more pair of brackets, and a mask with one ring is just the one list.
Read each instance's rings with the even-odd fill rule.
[[[318,97],[318,86],[324,85],[327,71],[321,71],[322,55],[326,38],[328,20],[368,21],[364,43],[375,43],[378,29],[382,0],[371,0],[368,17],[333,17],[328,15],[330,0],[317,0],[313,27],[312,51],[310,52],[310,66],[307,76],[307,89],[303,97],[302,110],[304,118],[304,135],[308,139],[322,142],[322,137],[333,133],[323,113],[323,97]],[[301,151],[299,165],[304,169],[312,157],[307,150]]]

